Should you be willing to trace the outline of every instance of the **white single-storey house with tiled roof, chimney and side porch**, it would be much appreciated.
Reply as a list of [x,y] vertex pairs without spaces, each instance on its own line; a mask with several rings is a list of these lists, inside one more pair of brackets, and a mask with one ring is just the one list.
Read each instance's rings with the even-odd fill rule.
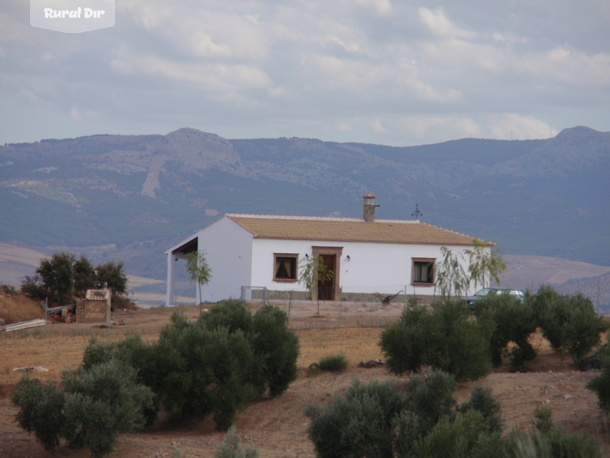
[[299,270],[311,256],[321,256],[334,273],[312,295],[338,301],[375,293],[432,296],[438,293],[435,273],[441,247],[460,254],[473,247],[474,239],[486,250],[493,246],[418,220],[375,220],[375,196],[363,197],[362,219],[225,215],[166,251],[166,305],[175,301],[176,262],[195,250],[205,252],[212,268],[198,302],[239,298],[244,291],[249,298],[248,287],[266,288],[268,297],[292,292],[305,298],[308,292],[299,283]]

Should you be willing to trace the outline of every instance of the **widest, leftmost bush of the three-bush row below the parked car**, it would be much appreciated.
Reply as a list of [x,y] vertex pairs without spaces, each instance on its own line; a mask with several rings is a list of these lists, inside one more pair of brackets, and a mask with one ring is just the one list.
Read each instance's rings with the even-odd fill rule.
[[463,381],[476,380],[491,369],[488,331],[470,319],[468,307],[459,301],[441,302],[433,310],[406,309],[384,330],[380,345],[395,374],[430,365]]

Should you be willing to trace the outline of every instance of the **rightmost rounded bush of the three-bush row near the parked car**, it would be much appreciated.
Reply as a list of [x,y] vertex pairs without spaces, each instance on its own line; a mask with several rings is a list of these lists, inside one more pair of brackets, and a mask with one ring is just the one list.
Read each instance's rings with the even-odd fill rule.
[[534,299],[542,333],[554,351],[568,352],[576,364],[600,341],[604,325],[593,302],[581,293],[557,294],[549,287]]

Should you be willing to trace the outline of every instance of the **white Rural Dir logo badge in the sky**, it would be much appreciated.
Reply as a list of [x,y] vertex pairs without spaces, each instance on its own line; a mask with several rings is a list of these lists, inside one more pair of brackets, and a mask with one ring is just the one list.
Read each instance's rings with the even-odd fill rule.
[[30,25],[64,33],[114,27],[115,0],[30,0]]

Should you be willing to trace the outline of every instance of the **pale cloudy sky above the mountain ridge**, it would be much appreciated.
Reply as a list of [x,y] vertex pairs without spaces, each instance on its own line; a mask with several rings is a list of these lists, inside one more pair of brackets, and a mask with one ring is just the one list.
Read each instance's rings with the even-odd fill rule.
[[605,132],[609,24],[608,0],[116,0],[113,27],[62,33],[2,0],[0,144]]

